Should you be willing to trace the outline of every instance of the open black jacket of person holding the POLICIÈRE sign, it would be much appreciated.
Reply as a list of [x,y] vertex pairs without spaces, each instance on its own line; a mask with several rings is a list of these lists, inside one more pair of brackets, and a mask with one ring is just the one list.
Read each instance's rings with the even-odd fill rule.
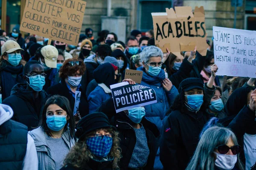
[[[108,119],[110,119],[111,125],[116,127],[119,132],[119,138],[121,139],[120,147],[122,149],[122,158],[119,165],[121,169],[126,170],[136,144],[136,134],[131,126],[133,122],[126,116],[125,112],[116,113],[112,98],[106,100],[97,111],[105,113]],[[145,128],[150,151],[147,164],[143,167],[143,170],[153,170],[154,160],[159,147],[158,139],[160,133],[157,126],[149,122],[145,117],[143,117],[141,124]]]

